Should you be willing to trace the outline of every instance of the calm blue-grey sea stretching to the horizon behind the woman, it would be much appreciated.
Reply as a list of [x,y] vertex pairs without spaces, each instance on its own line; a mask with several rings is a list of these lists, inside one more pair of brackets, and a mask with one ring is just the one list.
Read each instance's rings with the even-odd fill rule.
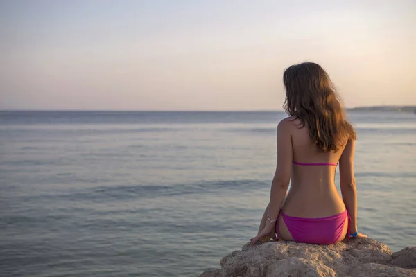
[[[283,113],[0,112],[1,276],[197,276],[257,232]],[[358,227],[416,244],[416,115],[354,113]]]

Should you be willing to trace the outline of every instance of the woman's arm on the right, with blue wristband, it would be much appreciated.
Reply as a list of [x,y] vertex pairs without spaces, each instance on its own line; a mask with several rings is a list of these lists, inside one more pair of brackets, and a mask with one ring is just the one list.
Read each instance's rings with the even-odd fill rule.
[[[350,233],[356,233],[357,227],[357,190],[354,177],[354,150],[355,141],[348,140],[345,150],[340,157],[340,188],[343,195],[343,201],[351,222],[349,223]],[[358,233],[356,238],[363,238],[366,235]]]

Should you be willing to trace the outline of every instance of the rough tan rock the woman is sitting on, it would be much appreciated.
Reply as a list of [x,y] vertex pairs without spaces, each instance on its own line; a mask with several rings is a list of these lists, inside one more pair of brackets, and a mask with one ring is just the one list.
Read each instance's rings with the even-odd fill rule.
[[370,238],[333,245],[295,242],[245,244],[220,260],[221,269],[200,277],[416,276],[416,247],[392,253]]

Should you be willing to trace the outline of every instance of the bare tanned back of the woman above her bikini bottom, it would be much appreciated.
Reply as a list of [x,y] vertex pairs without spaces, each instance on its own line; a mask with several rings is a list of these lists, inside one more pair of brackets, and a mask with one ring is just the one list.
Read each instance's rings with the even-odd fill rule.
[[[309,129],[300,120],[291,122],[293,161],[297,163],[334,163],[340,161],[345,145],[337,152],[319,152],[311,141]],[[345,204],[335,186],[336,166],[292,166],[291,189],[283,211],[294,217],[328,217],[345,211]]]

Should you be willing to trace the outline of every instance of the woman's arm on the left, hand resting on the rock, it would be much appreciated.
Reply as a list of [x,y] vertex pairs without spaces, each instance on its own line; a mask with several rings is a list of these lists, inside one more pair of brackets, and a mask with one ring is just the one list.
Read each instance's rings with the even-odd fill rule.
[[277,165],[270,190],[266,226],[256,237],[250,240],[252,244],[256,243],[260,238],[269,235],[275,229],[276,220],[286,196],[289,181],[291,181],[293,160],[292,128],[291,118],[281,120],[279,125],[277,125]]

